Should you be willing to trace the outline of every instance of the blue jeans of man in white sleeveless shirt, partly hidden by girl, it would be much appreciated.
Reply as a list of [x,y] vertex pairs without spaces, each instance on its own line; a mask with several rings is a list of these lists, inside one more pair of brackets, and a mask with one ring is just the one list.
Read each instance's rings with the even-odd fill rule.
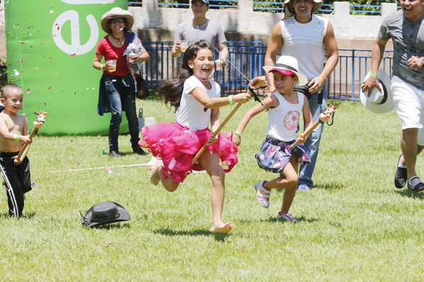
[[[317,122],[319,119],[319,115],[321,112],[326,110],[327,107],[327,88],[326,85],[323,86],[323,100],[322,104],[318,103],[318,93],[311,94],[308,98],[309,101],[309,109],[311,109],[312,120],[313,122]],[[305,124],[304,124],[305,125]],[[324,124],[319,124],[314,131],[308,136],[304,146],[309,148],[309,155],[311,156],[311,163],[309,165],[300,165],[299,169],[299,184],[306,184],[308,186],[314,185],[312,181],[312,174],[314,173],[316,157],[318,156],[319,151],[319,143],[321,142],[321,133],[324,128]]]

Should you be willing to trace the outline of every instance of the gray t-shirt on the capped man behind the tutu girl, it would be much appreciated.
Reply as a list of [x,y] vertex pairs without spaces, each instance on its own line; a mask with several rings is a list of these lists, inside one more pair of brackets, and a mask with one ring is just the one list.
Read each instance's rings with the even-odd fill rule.
[[188,45],[199,40],[206,40],[212,48],[227,42],[221,25],[212,20],[207,20],[204,25],[200,26],[193,24],[193,20],[180,23],[176,30],[175,41],[177,40],[188,40]]

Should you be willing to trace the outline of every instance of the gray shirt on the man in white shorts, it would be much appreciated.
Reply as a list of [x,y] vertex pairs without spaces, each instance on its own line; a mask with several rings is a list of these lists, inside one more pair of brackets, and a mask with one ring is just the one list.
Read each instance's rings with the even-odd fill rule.
[[411,56],[424,57],[423,19],[408,20],[403,16],[402,10],[399,10],[384,18],[379,31],[382,40],[391,38],[393,41],[393,73],[421,90],[424,90],[424,67],[411,69],[408,59]]

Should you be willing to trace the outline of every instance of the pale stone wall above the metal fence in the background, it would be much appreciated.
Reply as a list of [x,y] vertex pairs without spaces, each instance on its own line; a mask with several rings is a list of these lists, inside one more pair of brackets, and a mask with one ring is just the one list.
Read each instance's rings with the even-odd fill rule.
[[[273,26],[284,13],[255,12],[252,2],[239,0],[238,9],[210,9],[207,18],[222,25],[229,41],[262,40],[267,45]],[[382,16],[352,16],[348,1],[336,1],[332,14],[320,16],[333,24],[340,49],[371,49],[382,19],[396,11],[396,6],[383,3]],[[147,41],[172,41],[178,23],[193,18],[190,8],[159,8],[158,0],[145,1],[142,7],[130,7],[130,11],[135,18],[134,29]]]

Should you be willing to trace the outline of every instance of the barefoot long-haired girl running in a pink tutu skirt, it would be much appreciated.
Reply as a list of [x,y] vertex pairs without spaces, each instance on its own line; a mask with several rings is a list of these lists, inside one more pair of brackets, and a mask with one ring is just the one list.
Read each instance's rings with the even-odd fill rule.
[[[178,76],[159,88],[164,102],[176,109],[176,122],[153,124],[142,129],[139,146],[159,159],[151,172],[151,182],[159,181],[173,192],[192,170],[206,170],[212,180],[212,233],[229,233],[231,223],[221,220],[224,206],[224,172],[237,163],[237,147],[232,133],[219,134],[210,140],[219,127],[219,107],[244,103],[248,93],[221,98],[218,83],[210,81],[214,69],[213,49],[205,40],[190,45],[183,55]],[[212,129],[209,129],[211,124]],[[212,130],[212,131],[211,131]],[[207,143],[197,162],[193,157]]]

